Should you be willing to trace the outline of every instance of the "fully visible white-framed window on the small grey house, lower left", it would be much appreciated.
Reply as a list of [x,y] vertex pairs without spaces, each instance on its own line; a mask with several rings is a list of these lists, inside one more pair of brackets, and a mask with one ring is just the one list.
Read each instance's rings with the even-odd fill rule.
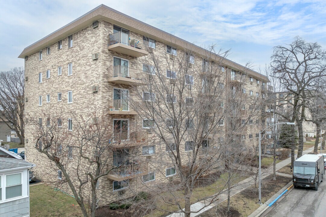
[[22,173],[6,175],[6,199],[22,196]]

